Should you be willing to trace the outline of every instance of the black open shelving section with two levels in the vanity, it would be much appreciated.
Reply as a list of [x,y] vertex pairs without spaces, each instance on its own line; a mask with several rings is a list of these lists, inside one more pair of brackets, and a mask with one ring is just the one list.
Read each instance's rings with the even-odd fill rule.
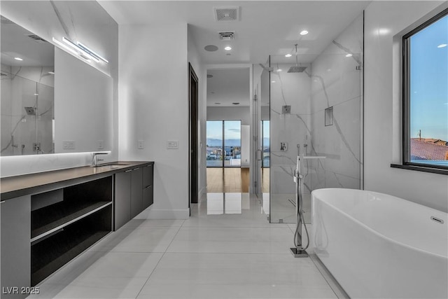
[[31,195],[31,286],[112,230],[112,176]]

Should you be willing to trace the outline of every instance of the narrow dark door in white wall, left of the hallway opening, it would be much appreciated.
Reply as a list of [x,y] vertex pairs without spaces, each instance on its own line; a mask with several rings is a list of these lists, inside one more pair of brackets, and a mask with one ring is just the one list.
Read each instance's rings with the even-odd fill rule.
[[[189,102],[190,102],[190,203],[197,203],[197,96],[198,80],[195,70],[189,64]],[[188,204],[190,206],[190,204]]]

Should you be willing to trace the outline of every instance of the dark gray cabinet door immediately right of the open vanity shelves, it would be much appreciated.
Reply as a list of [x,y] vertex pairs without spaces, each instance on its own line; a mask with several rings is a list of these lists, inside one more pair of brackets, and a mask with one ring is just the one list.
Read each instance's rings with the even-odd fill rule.
[[115,174],[115,230],[131,220],[132,171]]

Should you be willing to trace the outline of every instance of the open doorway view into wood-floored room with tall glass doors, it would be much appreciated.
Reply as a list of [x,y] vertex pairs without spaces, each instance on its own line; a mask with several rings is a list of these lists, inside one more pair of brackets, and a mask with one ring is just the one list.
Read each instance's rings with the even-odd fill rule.
[[248,193],[251,68],[207,70],[207,193]]

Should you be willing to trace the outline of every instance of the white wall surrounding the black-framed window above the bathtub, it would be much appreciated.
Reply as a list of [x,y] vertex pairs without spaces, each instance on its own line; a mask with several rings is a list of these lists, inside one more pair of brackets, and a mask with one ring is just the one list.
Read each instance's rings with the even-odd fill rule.
[[401,162],[400,39],[393,36],[440,5],[447,1],[372,1],[365,9],[364,177],[366,190],[447,211],[447,176],[391,168]]

